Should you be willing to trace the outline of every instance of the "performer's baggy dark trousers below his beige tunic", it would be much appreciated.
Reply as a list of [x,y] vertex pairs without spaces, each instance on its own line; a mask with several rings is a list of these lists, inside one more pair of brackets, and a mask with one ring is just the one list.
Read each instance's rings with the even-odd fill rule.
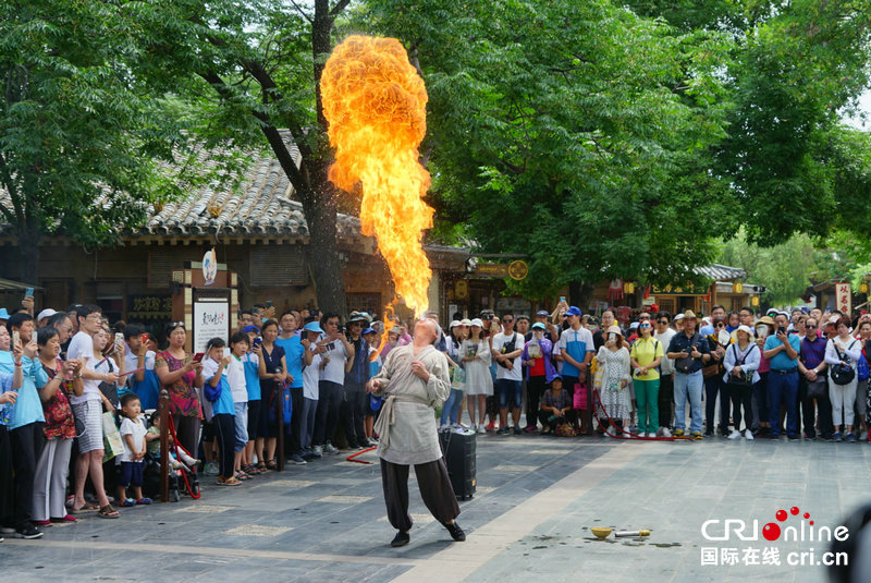
[[[436,520],[445,524],[459,515],[444,458],[415,464],[415,474],[420,497]],[[413,524],[408,515],[408,466],[381,460],[381,481],[390,523],[397,531],[408,532]]]

